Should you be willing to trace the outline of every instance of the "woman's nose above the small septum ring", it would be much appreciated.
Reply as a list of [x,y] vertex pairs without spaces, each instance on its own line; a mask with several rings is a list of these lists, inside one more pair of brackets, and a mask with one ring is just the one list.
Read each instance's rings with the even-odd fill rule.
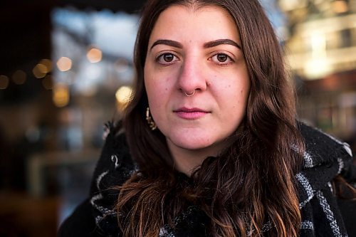
[[187,58],[184,60],[179,71],[178,88],[182,93],[190,95],[192,92],[206,90],[206,77],[204,62],[198,58]]

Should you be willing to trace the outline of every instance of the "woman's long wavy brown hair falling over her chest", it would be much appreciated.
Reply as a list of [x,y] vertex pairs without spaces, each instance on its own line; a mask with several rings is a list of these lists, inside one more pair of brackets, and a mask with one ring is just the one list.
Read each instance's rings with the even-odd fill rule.
[[[143,70],[150,33],[169,6],[220,6],[239,28],[251,92],[244,125],[218,157],[208,157],[189,178],[179,179],[166,140],[145,120]],[[135,45],[135,93],[123,127],[140,172],[120,187],[118,223],[125,236],[158,236],[174,217],[199,206],[212,236],[298,236],[300,211],[294,175],[303,141],[295,125],[293,90],[281,48],[258,0],[152,0],[142,13]],[[291,149],[291,147],[294,149]],[[295,149],[295,147],[297,149]],[[188,178],[187,178],[188,179]]]

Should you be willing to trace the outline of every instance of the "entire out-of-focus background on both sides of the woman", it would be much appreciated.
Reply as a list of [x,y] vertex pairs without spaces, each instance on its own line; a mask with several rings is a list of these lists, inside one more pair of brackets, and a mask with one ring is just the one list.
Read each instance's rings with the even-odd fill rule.
[[[261,0],[298,117],[356,152],[356,0]],[[0,237],[56,236],[131,92],[143,0],[0,3]]]

